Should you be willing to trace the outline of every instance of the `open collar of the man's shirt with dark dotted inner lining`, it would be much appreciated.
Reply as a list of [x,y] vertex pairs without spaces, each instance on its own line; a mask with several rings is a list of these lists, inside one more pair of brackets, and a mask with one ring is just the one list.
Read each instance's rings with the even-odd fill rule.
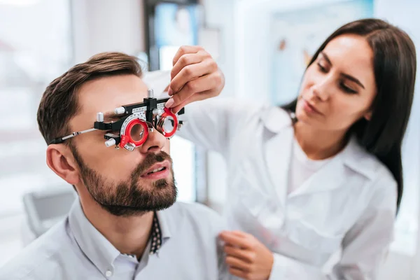
[[[121,253],[87,220],[80,205],[80,200],[76,200],[71,207],[69,225],[78,246],[99,271],[104,275],[109,270],[113,271],[113,262]],[[166,215],[158,212],[153,217],[152,235],[149,240],[151,246],[146,246],[146,248],[150,248],[149,254],[158,253],[160,247],[165,244],[169,237],[171,237],[171,234]],[[155,246],[153,246],[153,241],[155,241]]]

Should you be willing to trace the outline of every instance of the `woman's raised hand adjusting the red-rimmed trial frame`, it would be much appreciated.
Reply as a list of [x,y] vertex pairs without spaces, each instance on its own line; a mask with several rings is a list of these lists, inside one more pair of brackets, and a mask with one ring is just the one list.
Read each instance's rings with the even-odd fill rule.
[[174,57],[167,106],[172,112],[191,102],[217,96],[225,86],[214,59],[199,46],[182,46]]

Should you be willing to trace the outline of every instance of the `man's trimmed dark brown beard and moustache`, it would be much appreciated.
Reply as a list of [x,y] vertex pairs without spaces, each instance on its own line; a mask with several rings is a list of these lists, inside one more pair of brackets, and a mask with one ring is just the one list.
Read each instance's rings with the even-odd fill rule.
[[[92,198],[106,211],[115,216],[136,216],[148,211],[160,211],[171,207],[176,201],[172,159],[165,153],[149,153],[143,162],[132,172],[129,179],[118,183],[109,182],[101,174],[85,165],[76,147],[71,144],[71,151],[80,168],[80,177]],[[169,182],[160,179],[151,186],[139,185],[139,178],[157,162],[171,162],[172,178]],[[150,189],[149,189],[150,188]]]

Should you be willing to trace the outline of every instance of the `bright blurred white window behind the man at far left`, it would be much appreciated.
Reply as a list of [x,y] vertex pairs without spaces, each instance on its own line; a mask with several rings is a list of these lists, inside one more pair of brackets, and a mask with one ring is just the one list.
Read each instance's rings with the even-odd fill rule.
[[0,215],[22,194],[64,185],[45,164],[36,111],[46,85],[72,63],[70,0],[0,0]]

